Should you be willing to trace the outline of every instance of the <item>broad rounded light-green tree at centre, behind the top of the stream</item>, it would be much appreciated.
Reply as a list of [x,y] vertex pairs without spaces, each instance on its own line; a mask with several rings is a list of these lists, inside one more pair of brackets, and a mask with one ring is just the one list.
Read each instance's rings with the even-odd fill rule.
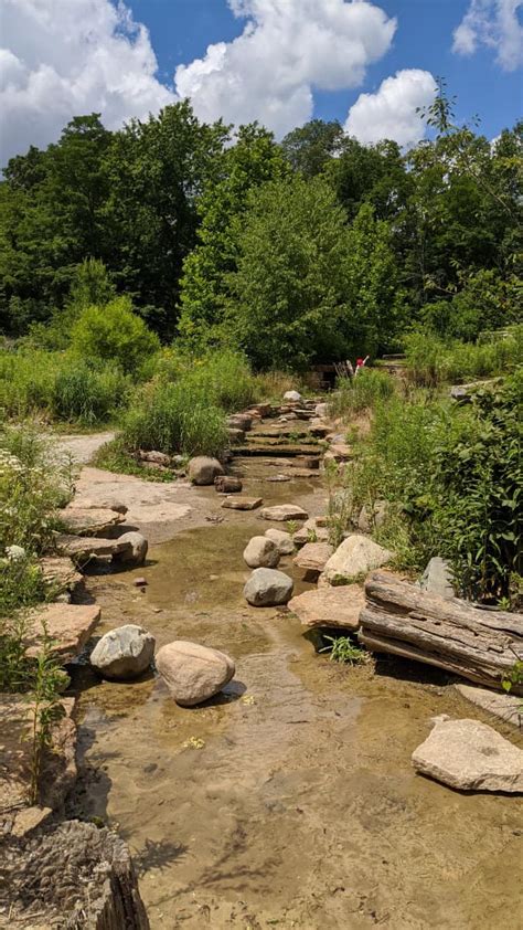
[[253,192],[223,339],[260,369],[372,351],[397,303],[386,236],[370,207],[348,229],[321,178],[297,175]]

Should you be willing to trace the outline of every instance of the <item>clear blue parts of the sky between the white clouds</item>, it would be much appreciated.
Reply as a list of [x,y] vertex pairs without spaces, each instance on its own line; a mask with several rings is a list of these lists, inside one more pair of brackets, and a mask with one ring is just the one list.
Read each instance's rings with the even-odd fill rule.
[[[177,65],[202,57],[209,44],[230,42],[244,28],[226,0],[130,0],[128,6],[135,19],[147,24],[160,76],[168,83]],[[377,6],[398,20],[391,51],[369,68],[362,86],[317,91],[314,116],[343,123],[360,93],[375,92],[384,78],[401,68],[424,68],[445,77],[449,93],[458,98],[458,118],[466,120],[479,114],[481,131],[489,138],[523,116],[521,67],[503,70],[489,47],[478,49],[470,57],[452,52],[452,32],[463,19],[469,0],[378,0]]]

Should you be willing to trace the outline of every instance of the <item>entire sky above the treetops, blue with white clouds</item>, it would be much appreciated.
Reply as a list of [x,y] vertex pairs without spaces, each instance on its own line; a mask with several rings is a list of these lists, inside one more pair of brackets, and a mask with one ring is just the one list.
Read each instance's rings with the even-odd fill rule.
[[521,118],[523,0],[0,0],[0,162],[75,115],[114,129],[184,97],[277,138],[319,117],[408,147],[437,76],[489,138]]

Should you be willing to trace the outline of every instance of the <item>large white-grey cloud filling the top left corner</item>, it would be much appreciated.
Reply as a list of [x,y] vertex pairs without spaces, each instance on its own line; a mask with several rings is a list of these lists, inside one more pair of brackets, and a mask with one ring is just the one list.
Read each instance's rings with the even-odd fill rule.
[[0,162],[54,141],[73,116],[109,128],[175,99],[149,33],[110,0],[0,0]]

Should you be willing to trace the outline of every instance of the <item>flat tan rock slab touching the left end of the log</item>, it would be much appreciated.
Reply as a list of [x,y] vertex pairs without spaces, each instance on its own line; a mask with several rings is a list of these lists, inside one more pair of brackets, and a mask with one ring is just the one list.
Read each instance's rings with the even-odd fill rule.
[[365,592],[359,584],[343,588],[323,588],[305,591],[289,601],[289,610],[302,626],[339,627],[355,632],[360,626],[360,611],[365,604]]

